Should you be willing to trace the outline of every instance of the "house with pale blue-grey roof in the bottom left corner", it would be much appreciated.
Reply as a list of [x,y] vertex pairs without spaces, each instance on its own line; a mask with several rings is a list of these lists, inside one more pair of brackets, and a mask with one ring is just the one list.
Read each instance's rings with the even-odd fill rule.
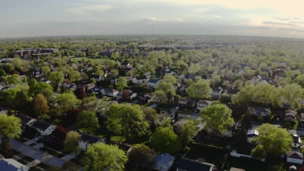
[[2,158],[0,159],[0,170],[3,171],[27,171],[28,166],[12,159],[12,158]]

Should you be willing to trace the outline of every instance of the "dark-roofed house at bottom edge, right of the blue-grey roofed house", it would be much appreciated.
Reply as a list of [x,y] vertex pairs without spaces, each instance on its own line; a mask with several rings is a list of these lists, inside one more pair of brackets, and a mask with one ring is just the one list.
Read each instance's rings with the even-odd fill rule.
[[212,171],[215,168],[214,164],[189,158],[180,158],[176,163],[176,171]]

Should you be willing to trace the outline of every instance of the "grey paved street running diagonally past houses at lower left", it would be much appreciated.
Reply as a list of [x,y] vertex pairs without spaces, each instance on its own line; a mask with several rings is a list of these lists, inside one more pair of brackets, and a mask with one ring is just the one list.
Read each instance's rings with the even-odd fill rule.
[[16,150],[24,155],[27,155],[33,159],[40,160],[43,163],[45,163],[46,165],[54,165],[57,167],[61,167],[62,164],[65,162],[64,159],[53,156],[51,154],[47,154],[44,151],[36,149],[32,146],[26,145],[18,140],[11,139],[10,143],[14,150]]

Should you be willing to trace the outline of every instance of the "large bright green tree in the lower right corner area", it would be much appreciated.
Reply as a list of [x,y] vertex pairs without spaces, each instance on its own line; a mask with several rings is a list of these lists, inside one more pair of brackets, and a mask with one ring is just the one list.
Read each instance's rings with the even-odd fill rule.
[[266,155],[279,156],[290,150],[293,140],[288,131],[276,125],[263,123],[258,128],[258,136],[253,140],[258,144],[251,155],[255,157],[265,157]]

